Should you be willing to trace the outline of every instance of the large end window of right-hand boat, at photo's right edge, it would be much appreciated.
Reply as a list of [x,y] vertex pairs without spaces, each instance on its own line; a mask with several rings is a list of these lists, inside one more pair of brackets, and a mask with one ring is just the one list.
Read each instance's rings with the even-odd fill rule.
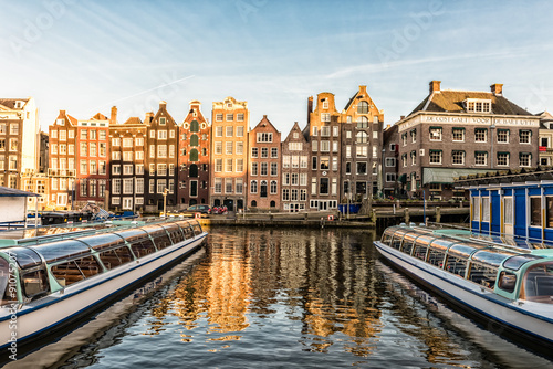
[[553,262],[540,263],[529,267],[524,276],[522,298],[553,304]]

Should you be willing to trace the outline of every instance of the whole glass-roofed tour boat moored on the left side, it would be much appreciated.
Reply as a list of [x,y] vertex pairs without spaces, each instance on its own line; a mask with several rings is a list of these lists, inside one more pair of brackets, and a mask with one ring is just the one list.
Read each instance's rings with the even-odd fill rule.
[[[51,242],[1,240],[0,348],[49,335],[198,247],[196,220],[140,222]],[[11,243],[11,245],[9,245]]]

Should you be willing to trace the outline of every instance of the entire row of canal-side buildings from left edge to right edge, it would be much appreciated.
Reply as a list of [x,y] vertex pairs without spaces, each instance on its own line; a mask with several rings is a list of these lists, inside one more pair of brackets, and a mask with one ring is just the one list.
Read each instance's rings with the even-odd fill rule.
[[[531,114],[489,92],[442,89],[385,128],[383,110],[359,86],[343,108],[323,92],[307,98],[305,124],[282,135],[246,101],[199,101],[175,119],[167,103],[142,117],[65,110],[39,129],[32,98],[0,99],[0,186],[40,194],[39,209],[178,211],[335,210],[371,198],[461,199],[459,176],[551,166],[551,114]],[[31,208],[34,208],[31,205]]]

